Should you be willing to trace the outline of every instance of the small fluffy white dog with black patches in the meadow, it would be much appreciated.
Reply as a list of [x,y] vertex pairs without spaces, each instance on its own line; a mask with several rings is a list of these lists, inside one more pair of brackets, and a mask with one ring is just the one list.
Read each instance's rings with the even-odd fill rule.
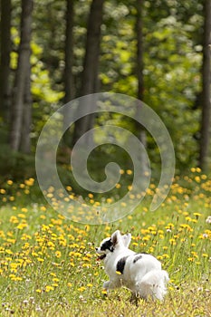
[[131,235],[115,231],[110,238],[96,247],[99,260],[104,260],[105,272],[110,281],[103,283],[107,291],[121,286],[127,287],[132,298],[163,300],[167,293],[168,273],[161,269],[160,262],[148,254],[137,254],[129,250]]

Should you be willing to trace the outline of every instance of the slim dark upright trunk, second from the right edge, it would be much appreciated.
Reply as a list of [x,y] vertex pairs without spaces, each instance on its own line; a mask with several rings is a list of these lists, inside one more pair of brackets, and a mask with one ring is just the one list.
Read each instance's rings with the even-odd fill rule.
[[[138,79],[138,91],[137,97],[139,101],[143,101],[144,99],[144,79],[143,79],[143,24],[142,24],[142,8],[143,8],[143,0],[136,0],[136,9],[137,9],[137,19],[136,19],[136,36],[137,36],[137,62],[136,62],[136,69],[137,69],[137,79]],[[137,107],[137,116],[139,117],[140,111],[140,102]],[[136,125],[136,133],[137,137],[139,138],[140,142],[143,146],[147,147],[147,137],[146,131],[144,127],[142,127],[139,123]],[[145,153],[140,153],[140,164],[144,171],[147,171],[148,164],[146,160]]]

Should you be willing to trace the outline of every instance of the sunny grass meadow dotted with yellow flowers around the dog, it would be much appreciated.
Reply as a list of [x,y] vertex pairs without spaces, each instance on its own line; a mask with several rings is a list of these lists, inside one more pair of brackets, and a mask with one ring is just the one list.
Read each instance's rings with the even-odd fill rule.
[[[101,226],[73,223],[37,201],[33,178],[8,180],[0,189],[1,315],[210,316],[211,181],[199,172],[177,178],[157,211],[149,211],[152,184],[134,213]],[[168,271],[163,303],[137,307],[126,289],[102,290],[107,276],[94,247],[117,228],[132,234],[130,248],[156,255]]]

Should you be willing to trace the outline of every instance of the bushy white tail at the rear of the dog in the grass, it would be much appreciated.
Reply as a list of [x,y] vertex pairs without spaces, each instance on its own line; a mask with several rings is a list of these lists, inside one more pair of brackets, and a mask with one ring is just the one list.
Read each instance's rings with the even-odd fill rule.
[[147,299],[151,296],[162,301],[167,293],[168,273],[164,270],[152,270],[145,274],[138,285],[139,296]]

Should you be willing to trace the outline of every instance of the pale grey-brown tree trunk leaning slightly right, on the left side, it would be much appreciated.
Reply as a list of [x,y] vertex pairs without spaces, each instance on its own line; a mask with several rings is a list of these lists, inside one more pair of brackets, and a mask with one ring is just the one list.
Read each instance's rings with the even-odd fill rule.
[[[32,30],[33,0],[22,0],[21,42],[19,46],[18,64],[14,78],[13,105],[11,116],[10,144],[14,150],[20,149],[22,125],[24,120],[24,98],[28,96],[30,81],[30,41]],[[27,97],[28,99],[28,97]],[[31,107],[29,104],[27,107]],[[24,146],[23,146],[24,147]]]

